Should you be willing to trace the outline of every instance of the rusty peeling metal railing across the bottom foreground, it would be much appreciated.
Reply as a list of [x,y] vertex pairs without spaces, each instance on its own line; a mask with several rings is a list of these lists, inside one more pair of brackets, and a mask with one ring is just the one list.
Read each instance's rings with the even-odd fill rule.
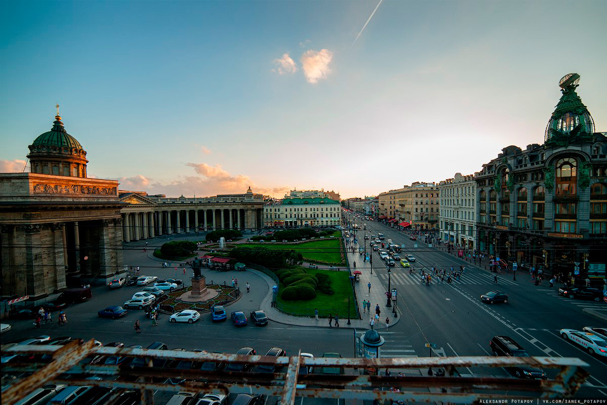
[[[524,393],[524,397],[565,398],[577,392],[584,383],[588,366],[577,358],[561,357],[427,357],[427,358],[302,358],[296,356],[268,357],[243,356],[222,353],[177,352],[172,350],[148,350],[116,347],[99,347],[94,341],[73,341],[64,346],[56,345],[16,345],[2,346],[2,355],[30,353],[33,362],[8,362],[2,373],[32,373],[16,381],[2,392],[2,404],[13,405],[20,398],[37,387],[49,383],[63,383],[83,386],[105,386],[118,390],[137,389],[141,392],[141,403],[153,404],[153,390],[169,392],[223,392],[258,393],[279,395],[282,404],[293,405],[295,396],[344,398],[358,400],[392,400],[411,402],[433,402],[468,404],[478,398],[520,398],[512,392]],[[50,354],[50,363],[36,362],[41,355]],[[126,356],[144,358],[146,366],[110,366],[79,364],[81,360],[95,356]],[[37,357],[36,357],[37,356]],[[273,365],[280,372],[207,372],[204,370],[182,370],[154,367],[153,359],[186,360],[200,362],[222,362],[249,365]],[[340,375],[313,373],[299,375],[300,366],[337,367],[344,369]],[[554,379],[496,378],[492,376],[455,376],[456,368],[517,367],[531,366],[559,369]],[[367,375],[367,369],[435,369],[443,368],[446,376],[379,376]],[[84,379],[87,374],[109,375],[112,379]],[[73,376],[81,378],[73,379]],[[153,380],[166,378],[185,379],[181,384],[155,383]],[[297,389],[296,384],[306,384]],[[390,390],[398,387],[400,392]],[[385,389],[385,390],[382,390]],[[432,392],[435,390],[436,392]],[[115,396],[115,395],[114,395]]]

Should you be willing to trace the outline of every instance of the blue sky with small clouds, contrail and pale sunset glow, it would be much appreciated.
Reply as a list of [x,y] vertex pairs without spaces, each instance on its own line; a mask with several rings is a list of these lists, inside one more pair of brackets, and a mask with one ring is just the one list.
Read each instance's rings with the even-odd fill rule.
[[186,197],[472,174],[543,143],[571,72],[607,131],[606,1],[379,3],[0,0],[0,172],[55,104],[89,177]]

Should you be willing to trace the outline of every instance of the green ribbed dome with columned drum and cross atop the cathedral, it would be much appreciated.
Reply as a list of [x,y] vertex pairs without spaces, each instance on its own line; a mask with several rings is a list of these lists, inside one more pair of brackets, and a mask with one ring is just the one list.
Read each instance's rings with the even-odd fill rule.
[[86,151],[80,142],[63,128],[59,104],[53,128],[36,138],[29,146],[32,173],[86,177]]

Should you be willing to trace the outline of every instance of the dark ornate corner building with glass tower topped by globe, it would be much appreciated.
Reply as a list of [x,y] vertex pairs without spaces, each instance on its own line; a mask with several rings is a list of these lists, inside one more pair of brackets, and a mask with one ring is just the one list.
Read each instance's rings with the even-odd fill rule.
[[576,89],[560,80],[561,98],[544,143],[507,146],[475,175],[476,243],[481,252],[540,268],[563,282],[601,287],[607,258],[607,133]]

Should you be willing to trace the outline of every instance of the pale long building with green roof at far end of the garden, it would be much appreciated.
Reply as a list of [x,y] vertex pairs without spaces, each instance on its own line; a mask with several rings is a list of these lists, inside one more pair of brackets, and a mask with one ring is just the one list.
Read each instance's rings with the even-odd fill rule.
[[294,197],[263,206],[265,226],[336,226],[341,224],[341,204],[327,197]]

